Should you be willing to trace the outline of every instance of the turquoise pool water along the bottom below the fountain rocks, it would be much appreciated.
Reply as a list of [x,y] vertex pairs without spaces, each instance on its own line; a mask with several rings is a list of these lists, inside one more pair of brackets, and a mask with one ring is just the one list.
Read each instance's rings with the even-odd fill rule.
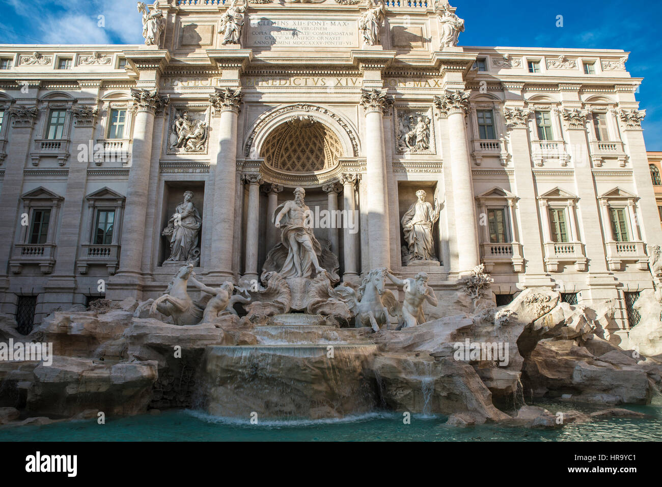
[[[62,422],[44,426],[0,429],[0,441],[659,441],[662,438],[662,404],[628,406],[651,419],[595,420],[542,431],[496,425],[468,428],[444,427],[445,416],[376,412],[343,420],[283,420],[251,424],[216,418],[198,411],[171,410],[159,415],[132,418]],[[555,413],[587,408],[563,403],[536,404]]]

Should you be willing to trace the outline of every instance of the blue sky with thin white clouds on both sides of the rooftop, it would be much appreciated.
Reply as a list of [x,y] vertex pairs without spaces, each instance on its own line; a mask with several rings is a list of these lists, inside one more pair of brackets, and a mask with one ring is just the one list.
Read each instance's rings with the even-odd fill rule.
[[[150,1],[146,3],[151,3]],[[632,52],[628,71],[644,77],[637,95],[646,109],[648,150],[662,151],[662,2],[616,0],[451,0],[466,21],[462,46],[604,48]],[[0,0],[0,42],[139,44],[135,0]],[[104,16],[99,27],[99,15]],[[563,27],[556,26],[563,15]]]

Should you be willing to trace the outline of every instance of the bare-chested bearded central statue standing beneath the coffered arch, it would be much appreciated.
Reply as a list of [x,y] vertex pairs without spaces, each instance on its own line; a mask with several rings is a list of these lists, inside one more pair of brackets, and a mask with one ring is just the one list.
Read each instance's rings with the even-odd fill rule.
[[310,208],[306,206],[305,196],[306,192],[303,188],[295,189],[295,199],[278,206],[278,208],[281,206],[283,208],[273,220],[276,228],[283,230],[281,242],[287,249],[287,259],[278,273],[284,279],[312,277],[313,271],[324,272],[318,259],[318,255],[322,254],[322,245],[308,225]]

